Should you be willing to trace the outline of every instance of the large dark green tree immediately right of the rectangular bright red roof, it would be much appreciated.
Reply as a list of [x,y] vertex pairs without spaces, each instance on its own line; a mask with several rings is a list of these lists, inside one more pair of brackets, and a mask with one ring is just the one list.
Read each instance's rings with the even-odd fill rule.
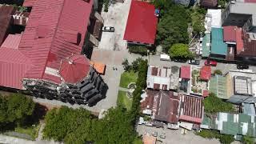
[[[159,5],[162,6],[161,2]],[[190,22],[189,14],[187,14],[183,6],[174,5],[170,2],[167,2],[167,4],[161,9],[162,13],[158,22],[158,34],[156,37],[157,43],[165,49],[174,43],[188,43],[189,35],[187,29]]]

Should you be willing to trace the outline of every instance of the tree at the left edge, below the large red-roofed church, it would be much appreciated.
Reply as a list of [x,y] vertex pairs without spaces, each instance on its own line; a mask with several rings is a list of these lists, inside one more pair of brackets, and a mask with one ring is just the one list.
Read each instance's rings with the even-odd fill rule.
[[0,96],[0,126],[22,124],[34,112],[35,103],[22,94]]

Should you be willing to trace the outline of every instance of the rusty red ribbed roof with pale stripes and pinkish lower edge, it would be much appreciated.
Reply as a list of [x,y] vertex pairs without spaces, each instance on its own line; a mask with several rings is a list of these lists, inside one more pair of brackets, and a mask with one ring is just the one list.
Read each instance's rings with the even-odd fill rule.
[[203,115],[202,98],[190,95],[182,95],[180,121],[201,123]]

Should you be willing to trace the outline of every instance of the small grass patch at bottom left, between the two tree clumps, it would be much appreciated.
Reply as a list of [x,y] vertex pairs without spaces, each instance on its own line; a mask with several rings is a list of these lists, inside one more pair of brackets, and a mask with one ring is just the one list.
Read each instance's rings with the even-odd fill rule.
[[33,138],[35,140],[35,138],[38,138],[38,132],[40,129],[40,125],[36,125],[36,126],[30,126],[30,127],[16,127],[15,128],[15,132],[21,133],[21,134],[27,134],[30,135],[31,138]]

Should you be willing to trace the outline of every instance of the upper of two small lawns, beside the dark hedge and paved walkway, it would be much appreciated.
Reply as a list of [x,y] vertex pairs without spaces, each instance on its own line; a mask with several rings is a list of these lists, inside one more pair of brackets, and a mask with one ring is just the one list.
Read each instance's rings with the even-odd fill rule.
[[121,75],[121,80],[120,80],[120,87],[127,88],[128,84],[130,82],[136,82],[138,78],[138,73],[134,73],[134,71],[130,72],[124,72]]

